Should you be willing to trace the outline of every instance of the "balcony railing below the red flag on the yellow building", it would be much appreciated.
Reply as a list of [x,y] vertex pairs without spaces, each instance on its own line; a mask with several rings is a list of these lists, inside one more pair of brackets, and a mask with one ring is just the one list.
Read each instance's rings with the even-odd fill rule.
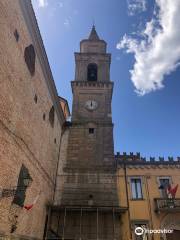
[[155,198],[156,212],[180,212],[180,198]]

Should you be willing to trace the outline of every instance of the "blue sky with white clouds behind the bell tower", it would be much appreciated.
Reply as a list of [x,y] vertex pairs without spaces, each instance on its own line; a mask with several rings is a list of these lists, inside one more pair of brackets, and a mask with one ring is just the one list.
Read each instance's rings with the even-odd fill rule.
[[94,21],[112,53],[115,152],[179,156],[179,0],[32,2],[58,93],[70,107],[74,52]]

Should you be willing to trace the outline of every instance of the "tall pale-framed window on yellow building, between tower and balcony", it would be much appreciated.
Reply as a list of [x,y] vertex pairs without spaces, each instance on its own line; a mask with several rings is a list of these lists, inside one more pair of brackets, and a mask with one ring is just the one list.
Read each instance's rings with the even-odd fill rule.
[[132,199],[142,199],[142,183],[141,178],[131,178]]

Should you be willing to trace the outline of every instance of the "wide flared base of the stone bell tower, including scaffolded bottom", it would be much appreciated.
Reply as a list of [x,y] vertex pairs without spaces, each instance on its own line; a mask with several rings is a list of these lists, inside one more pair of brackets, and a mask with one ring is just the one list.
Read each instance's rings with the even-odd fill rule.
[[49,206],[48,240],[121,240],[119,176],[113,171],[58,175]]

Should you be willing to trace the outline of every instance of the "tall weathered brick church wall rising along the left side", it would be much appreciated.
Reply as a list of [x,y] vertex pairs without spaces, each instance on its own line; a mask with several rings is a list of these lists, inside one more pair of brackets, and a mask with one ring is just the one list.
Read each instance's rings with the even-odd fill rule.
[[[13,196],[0,198],[0,233],[9,235],[14,225],[12,236],[42,239],[65,119],[30,1],[0,1],[0,25],[0,188],[16,188],[24,164],[33,180],[24,204],[39,196],[29,211],[12,204]],[[36,53],[33,75],[24,59],[30,44]],[[49,121],[52,106],[54,126]]]

